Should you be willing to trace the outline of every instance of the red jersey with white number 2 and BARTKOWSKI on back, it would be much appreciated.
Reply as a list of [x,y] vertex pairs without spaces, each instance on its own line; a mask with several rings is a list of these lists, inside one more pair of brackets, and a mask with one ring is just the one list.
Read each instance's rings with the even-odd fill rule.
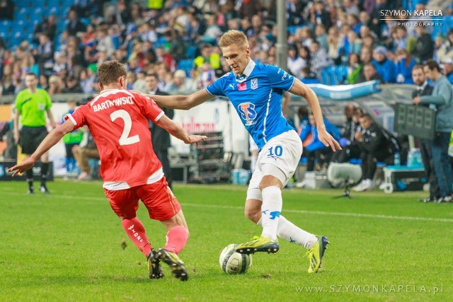
[[123,190],[156,182],[164,175],[151,145],[148,120],[164,112],[139,93],[110,89],[82,105],[69,119],[75,129],[87,125],[101,158],[103,187]]

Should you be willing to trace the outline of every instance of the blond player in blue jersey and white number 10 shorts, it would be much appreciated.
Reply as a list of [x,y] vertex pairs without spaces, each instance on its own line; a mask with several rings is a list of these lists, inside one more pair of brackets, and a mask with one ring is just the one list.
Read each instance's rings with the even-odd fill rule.
[[326,131],[314,91],[283,69],[253,62],[246,35],[238,30],[224,33],[219,46],[233,72],[191,95],[150,97],[161,106],[184,110],[200,105],[215,95],[229,98],[260,150],[256,170],[248,186],[245,214],[263,227],[263,233],[239,244],[236,251],[243,254],[277,252],[279,236],[309,250],[308,272],[317,272],[328,244],[327,238],[308,233],[280,215],[282,187],[294,174],[302,155],[302,141],[282,115],[282,94],[289,91],[304,97],[316,120],[319,140],[333,151],[341,147]]

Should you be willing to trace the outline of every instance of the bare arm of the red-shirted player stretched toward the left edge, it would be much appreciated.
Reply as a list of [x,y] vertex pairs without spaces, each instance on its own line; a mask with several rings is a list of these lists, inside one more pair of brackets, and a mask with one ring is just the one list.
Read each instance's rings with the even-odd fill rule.
[[13,172],[13,176],[17,175],[18,173],[24,173],[25,170],[28,170],[35,165],[35,162],[42,156],[42,154],[49,151],[52,146],[55,146],[59,142],[60,139],[67,134],[74,130],[74,123],[71,120],[67,120],[64,124],[60,124],[57,128],[53,129],[52,132],[47,134],[47,137],[41,142],[38,146],[38,149],[21,164],[14,165],[13,167],[8,169],[8,173]]

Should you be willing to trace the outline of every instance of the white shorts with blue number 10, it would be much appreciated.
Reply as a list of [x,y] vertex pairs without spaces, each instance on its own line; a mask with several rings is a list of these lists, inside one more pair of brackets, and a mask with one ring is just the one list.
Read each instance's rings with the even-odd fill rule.
[[[292,178],[302,156],[302,141],[294,130],[270,139],[261,149],[247,190],[247,199],[263,200],[260,182],[265,175],[278,178],[283,186]],[[263,165],[266,165],[263,171]]]

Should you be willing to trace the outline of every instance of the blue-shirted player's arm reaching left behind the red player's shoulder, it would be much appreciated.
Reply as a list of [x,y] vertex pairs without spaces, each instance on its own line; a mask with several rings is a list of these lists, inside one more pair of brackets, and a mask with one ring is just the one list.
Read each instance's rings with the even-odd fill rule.
[[150,95],[157,105],[166,108],[189,110],[205,101],[214,98],[214,95],[208,93],[205,89],[192,93],[191,95]]

